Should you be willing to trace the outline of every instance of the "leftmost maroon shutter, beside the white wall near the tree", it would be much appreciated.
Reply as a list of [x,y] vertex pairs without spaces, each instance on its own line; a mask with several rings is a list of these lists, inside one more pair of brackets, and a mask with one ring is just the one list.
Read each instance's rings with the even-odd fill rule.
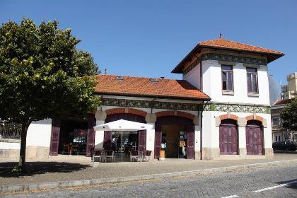
[[52,137],[50,141],[50,155],[57,156],[59,152],[59,136],[60,136],[61,120],[52,120]]

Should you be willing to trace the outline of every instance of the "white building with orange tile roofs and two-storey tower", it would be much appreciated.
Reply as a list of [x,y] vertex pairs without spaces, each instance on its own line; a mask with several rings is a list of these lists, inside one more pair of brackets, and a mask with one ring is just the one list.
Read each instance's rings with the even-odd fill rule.
[[[182,80],[98,75],[102,106],[88,120],[42,120],[30,124],[28,158],[69,153],[91,156],[94,148],[124,152],[126,146],[165,150],[166,158],[272,157],[267,64],[282,52],[219,37],[199,42],[175,66]],[[153,124],[139,132],[94,132],[114,120]],[[123,139],[125,148],[119,146]]]

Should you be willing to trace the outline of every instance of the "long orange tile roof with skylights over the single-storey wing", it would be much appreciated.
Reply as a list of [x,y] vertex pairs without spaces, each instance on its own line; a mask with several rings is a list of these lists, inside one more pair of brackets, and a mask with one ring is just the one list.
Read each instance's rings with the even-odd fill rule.
[[95,93],[106,95],[128,95],[159,98],[180,98],[209,100],[209,96],[184,80],[123,76],[118,80],[115,75],[97,75]]

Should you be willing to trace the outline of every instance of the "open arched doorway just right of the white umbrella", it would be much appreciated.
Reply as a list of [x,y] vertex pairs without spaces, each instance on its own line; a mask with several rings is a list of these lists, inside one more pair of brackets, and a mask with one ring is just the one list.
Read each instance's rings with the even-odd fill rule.
[[160,157],[161,149],[165,157],[194,159],[193,120],[179,116],[158,117],[155,127],[155,158]]

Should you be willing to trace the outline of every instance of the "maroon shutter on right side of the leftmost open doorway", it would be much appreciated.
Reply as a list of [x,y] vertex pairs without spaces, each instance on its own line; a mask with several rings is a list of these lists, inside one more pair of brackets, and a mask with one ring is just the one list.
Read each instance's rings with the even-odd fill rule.
[[87,148],[86,148],[86,156],[90,157],[91,152],[95,147],[95,131],[94,128],[96,124],[95,116],[88,115],[88,136],[87,136]]

